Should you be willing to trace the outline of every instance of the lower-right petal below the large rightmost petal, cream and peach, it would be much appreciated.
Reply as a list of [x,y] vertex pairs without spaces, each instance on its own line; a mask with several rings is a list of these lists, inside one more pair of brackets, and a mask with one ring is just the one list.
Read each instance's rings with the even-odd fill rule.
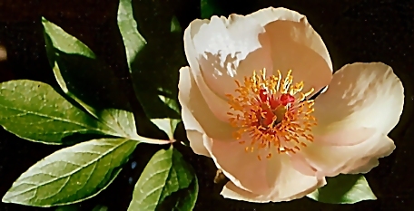
[[[362,131],[367,131],[369,134],[364,134]],[[344,139],[343,136],[343,133],[338,132],[336,136],[330,134],[330,139]],[[388,156],[395,149],[391,139],[378,131],[372,134],[370,129],[355,129],[345,138],[358,141],[351,141],[356,143],[354,145],[336,145],[335,140],[319,141],[319,136],[315,136],[314,142],[302,148],[299,153],[311,168],[317,170],[317,176],[335,177],[340,173],[368,172],[378,165],[378,162],[371,160]]]

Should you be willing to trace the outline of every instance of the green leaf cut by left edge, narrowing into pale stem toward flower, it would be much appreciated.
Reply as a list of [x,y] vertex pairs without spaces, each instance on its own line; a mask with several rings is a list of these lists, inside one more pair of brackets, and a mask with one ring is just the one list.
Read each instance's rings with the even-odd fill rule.
[[166,144],[137,134],[133,113],[101,110],[97,119],[76,108],[44,82],[17,80],[0,83],[0,124],[20,138],[62,144],[74,134],[102,134]]

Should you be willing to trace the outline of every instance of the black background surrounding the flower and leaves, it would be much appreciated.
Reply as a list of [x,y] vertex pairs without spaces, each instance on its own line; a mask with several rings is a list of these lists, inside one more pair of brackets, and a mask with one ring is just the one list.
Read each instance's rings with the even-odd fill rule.
[[[224,200],[218,195],[221,187],[213,185],[215,169],[209,158],[192,155],[182,149],[199,177],[200,193],[195,210],[412,210],[414,207],[414,2],[411,0],[227,0],[222,4],[224,14],[250,14],[267,6],[283,6],[305,14],[313,28],[320,34],[330,51],[335,70],[351,62],[385,62],[399,76],[405,87],[405,105],[399,125],[390,133],[397,149],[388,158],[380,159],[380,167],[368,173],[367,178],[376,201],[356,205],[325,205],[308,198],[288,203],[251,204]],[[131,86],[123,53],[121,34],[116,25],[118,1],[73,0],[2,0],[0,2],[0,45],[5,46],[7,60],[0,62],[0,82],[13,79],[31,79],[56,85],[44,49],[40,17],[45,16],[60,25],[69,34],[86,43],[116,70],[116,76],[124,82],[123,89]],[[193,19],[200,17],[199,0],[141,0],[133,1],[138,11],[140,32],[154,42],[163,39],[163,20],[170,21],[176,15],[184,29]],[[170,24],[169,22],[165,22]],[[182,46],[182,43],[173,47]],[[174,47],[174,48],[175,48]],[[160,55],[173,51],[165,43],[154,53]],[[179,49],[179,53],[183,53]],[[157,54],[154,54],[156,57]],[[0,60],[1,61],[1,60]],[[185,65],[179,61],[178,64]],[[127,91],[128,92],[128,91]],[[104,94],[104,93],[98,93]],[[131,97],[133,98],[133,97]],[[135,112],[140,112],[136,101]],[[387,101],[387,99],[384,99]],[[361,117],[363,118],[363,117]],[[153,135],[153,134],[150,134]],[[154,135],[153,135],[154,136]],[[45,146],[18,139],[0,130],[0,196],[11,187],[15,178],[44,158],[58,146]],[[146,149],[147,153],[142,153]],[[92,210],[94,205],[108,206],[109,210],[122,211],[131,200],[133,183],[139,177],[145,161],[158,147],[140,145],[123,169],[121,175],[103,193],[87,200],[82,210]],[[134,170],[133,161],[138,161]],[[132,183],[132,184],[133,184]],[[0,204],[0,211],[54,210],[13,204]]]

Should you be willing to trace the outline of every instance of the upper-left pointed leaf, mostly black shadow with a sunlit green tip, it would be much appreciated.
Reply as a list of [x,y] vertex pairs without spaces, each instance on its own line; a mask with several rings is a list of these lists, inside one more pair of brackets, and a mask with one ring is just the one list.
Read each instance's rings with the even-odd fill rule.
[[46,53],[64,93],[96,117],[96,110],[128,110],[121,81],[94,52],[61,27],[42,18]]

